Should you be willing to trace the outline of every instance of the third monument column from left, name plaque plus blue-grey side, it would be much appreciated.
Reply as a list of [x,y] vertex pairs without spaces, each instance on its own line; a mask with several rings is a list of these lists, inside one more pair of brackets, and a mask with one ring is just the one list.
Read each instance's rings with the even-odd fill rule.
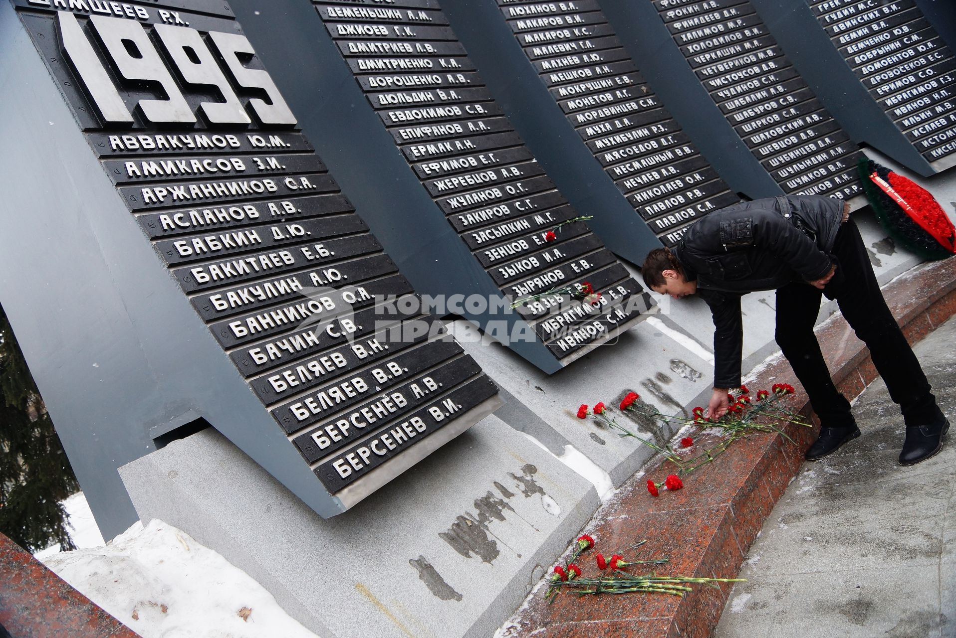
[[443,7],[549,175],[577,208],[594,211],[591,225],[620,256],[641,264],[659,246],[647,235],[674,245],[689,223],[739,201],[649,87],[597,0]]

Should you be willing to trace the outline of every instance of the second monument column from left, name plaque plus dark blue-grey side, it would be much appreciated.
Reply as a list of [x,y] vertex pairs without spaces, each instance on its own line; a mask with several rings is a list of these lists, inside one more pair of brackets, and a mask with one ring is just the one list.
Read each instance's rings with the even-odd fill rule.
[[[514,131],[436,2],[320,2],[311,17],[240,4],[261,12],[253,38],[283,60],[277,81],[307,111],[305,130],[335,129],[323,157],[363,184],[350,192],[371,225],[390,229],[386,248],[445,312],[552,373],[653,308]],[[265,43],[277,25],[294,38]]]

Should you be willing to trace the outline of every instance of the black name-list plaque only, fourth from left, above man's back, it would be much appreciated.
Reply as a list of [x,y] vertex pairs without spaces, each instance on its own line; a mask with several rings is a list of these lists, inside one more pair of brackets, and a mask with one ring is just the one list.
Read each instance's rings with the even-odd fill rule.
[[[816,100],[750,1],[653,4],[709,96],[784,192],[840,199],[862,192],[854,173],[858,146]],[[753,135],[765,127],[779,131],[769,143]]]

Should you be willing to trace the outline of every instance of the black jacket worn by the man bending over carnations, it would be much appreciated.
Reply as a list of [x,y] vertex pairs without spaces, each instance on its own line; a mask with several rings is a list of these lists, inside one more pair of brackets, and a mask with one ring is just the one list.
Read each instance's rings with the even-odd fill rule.
[[693,223],[674,248],[714,321],[714,387],[740,386],[740,298],[824,277],[843,202],[816,195],[740,202]]

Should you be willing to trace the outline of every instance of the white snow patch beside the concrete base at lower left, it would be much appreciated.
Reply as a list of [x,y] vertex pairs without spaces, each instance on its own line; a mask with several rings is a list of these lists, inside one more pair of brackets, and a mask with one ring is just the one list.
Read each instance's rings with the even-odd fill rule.
[[82,494],[63,502],[79,549],[36,557],[142,638],[316,638],[262,585],[185,532],[137,522],[103,543]]

